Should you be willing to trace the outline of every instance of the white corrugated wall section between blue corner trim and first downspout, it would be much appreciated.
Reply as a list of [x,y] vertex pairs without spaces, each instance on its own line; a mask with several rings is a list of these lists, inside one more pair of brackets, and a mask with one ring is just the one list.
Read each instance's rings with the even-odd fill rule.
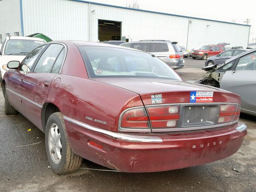
[[53,40],[88,40],[88,3],[22,0],[24,35],[36,32]]

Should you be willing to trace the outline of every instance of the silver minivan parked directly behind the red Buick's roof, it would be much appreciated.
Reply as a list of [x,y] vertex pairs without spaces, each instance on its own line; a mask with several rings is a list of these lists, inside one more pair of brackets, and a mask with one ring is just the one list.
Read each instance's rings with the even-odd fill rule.
[[180,69],[184,66],[183,53],[178,42],[167,40],[141,40],[136,42],[127,42],[120,46],[130,47],[145,52],[149,52],[173,69]]

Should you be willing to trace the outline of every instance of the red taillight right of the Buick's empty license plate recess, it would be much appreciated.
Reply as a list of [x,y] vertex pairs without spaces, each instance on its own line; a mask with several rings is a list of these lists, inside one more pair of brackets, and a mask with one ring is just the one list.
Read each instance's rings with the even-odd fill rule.
[[220,114],[218,123],[235,122],[239,119],[241,106],[238,104],[222,104],[220,105]]

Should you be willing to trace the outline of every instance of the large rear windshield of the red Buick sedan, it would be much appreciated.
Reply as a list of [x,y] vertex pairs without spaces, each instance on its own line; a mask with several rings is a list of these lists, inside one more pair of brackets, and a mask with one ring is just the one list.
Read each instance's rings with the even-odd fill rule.
[[152,54],[101,46],[80,46],[91,78],[97,77],[148,77],[181,78],[159,58]]

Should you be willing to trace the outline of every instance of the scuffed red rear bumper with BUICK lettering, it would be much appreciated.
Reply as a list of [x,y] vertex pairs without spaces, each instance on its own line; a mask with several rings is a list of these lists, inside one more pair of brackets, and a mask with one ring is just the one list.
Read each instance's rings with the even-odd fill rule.
[[[87,129],[66,118],[65,124],[76,154],[121,172],[158,172],[220,160],[236,153],[247,134],[246,126],[236,123],[190,134],[154,134],[152,141],[148,140],[150,137],[136,136],[148,141],[135,142],[136,139],[128,141]],[[129,134],[124,136],[130,137]],[[102,148],[91,146],[90,141]]]

